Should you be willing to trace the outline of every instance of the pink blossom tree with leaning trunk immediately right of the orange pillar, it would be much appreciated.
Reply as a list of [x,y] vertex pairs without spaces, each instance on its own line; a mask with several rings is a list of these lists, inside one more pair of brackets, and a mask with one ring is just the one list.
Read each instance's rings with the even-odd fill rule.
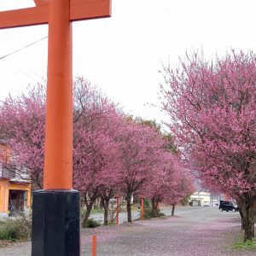
[[115,143],[111,137],[98,131],[77,132],[79,141],[74,145],[74,188],[79,189],[86,205],[86,214],[83,219],[85,225],[90,215],[91,207],[96,198],[101,195],[102,189],[114,183]]

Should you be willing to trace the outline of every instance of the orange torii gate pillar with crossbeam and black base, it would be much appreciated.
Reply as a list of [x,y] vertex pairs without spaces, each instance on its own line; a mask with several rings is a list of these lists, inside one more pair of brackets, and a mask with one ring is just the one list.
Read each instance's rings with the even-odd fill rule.
[[73,190],[72,23],[110,16],[111,0],[34,0],[0,12],[0,28],[49,24],[44,189],[33,193],[32,256],[80,255],[80,195]]

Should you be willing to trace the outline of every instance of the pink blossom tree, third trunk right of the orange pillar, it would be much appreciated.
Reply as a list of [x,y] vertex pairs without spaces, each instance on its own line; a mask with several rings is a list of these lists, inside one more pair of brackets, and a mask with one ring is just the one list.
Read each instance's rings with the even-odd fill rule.
[[163,140],[152,127],[125,120],[118,136],[121,154],[120,191],[125,195],[127,219],[131,222],[131,196],[140,193],[143,184],[152,180],[160,164]]

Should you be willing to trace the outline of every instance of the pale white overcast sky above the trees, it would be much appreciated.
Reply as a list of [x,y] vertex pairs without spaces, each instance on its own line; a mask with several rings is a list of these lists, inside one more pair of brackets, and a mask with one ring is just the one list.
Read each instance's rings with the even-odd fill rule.
[[[0,0],[0,9],[7,4],[33,2]],[[255,7],[255,0],[113,0],[111,18],[73,23],[73,75],[97,84],[125,112],[160,121],[160,109],[147,102],[160,105],[161,63],[175,67],[186,50],[212,58],[256,49]],[[47,26],[0,30],[0,58],[47,33]],[[47,39],[0,60],[0,98],[43,83],[46,67]]]

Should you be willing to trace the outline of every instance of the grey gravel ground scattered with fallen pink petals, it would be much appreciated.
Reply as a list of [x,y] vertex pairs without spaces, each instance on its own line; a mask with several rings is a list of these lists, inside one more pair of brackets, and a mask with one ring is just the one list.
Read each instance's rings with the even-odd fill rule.
[[[190,207],[171,218],[82,230],[82,255],[91,255],[92,235],[97,236],[99,256],[256,255],[232,249],[241,237],[239,213],[218,212],[216,207]],[[30,250],[30,242],[16,243],[0,248],[0,255],[26,256]]]

